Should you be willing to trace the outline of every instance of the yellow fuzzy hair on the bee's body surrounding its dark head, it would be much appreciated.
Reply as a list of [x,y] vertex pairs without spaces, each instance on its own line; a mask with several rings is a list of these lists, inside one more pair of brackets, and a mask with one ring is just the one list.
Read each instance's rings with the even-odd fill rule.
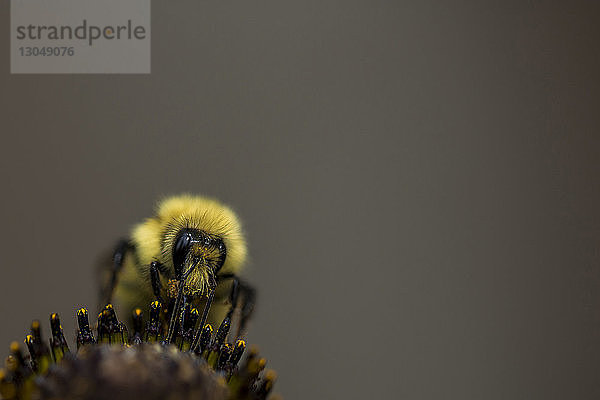
[[[180,229],[195,228],[217,235],[225,244],[221,273],[237,273],[246,260],[246,241],[237,215],[217,200],[188,194],[158,203],[156,215],[136,225],[131,233],[135,257],[127,257],[115,290],[115,302],[128,308],[142,306],[152,298],[148,265],[160,261],[174,271],[172,246]],[[166,284],[165,276],[161,277]],[[217,310],[215,310],[217,311]],[[212,314],[212,312],[211,312]]]

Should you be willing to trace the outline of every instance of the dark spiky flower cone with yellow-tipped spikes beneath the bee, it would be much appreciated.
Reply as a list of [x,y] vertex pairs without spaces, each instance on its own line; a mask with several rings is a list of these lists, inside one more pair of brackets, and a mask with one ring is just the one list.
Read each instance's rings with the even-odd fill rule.
[[[196,366],[195,368],[205,368],[209,373],[213,374],[211,376],[214,376],[215,382],[221,382],[220,385],[225,385],[225,382],[227,382],[227,387],[229,389],[228,398],[231,400],[259,400],[266,398],[273,386],[274,374],[266,372],[261,378],[261,372],[264,370],[266,361],[264,358],[258,357],[256,349],[250,350],[247,359],[238,366],[240,358],[242,358],[242,353],[246,348],[246,344],[243,340],[238,340],[235,345],[225,342],[229,327],[231,326],[231,320],[228,316],[224,318],[214,335],[212,335],[213,330],[209,324],[206,324],[204,328],[200,330],[201,335],[198,347],[203,350],[201,356],[199,356],[199,352],[185,351],[186,346],[191,345],[192,332],[195,332],[194,324],[198,319],[198,311],[190,309],[189,307],[186,307],[185,309],[186,319],[183,327],[184,329],[181,331],[182,334],[180,337],[177,337],[177,343],[178,345],[181,345],[181,350],[183,351],[177,351],[177,347],[175,346],[159,346],[156,344],[152,347],[153,350],[150,350],[150,345],[145,342],[156,342],[162,332],[161,319],[170,319],[170,315],[162,315],[162,310],[162,305],[159,302],[153,302],[150,305],[150,320],[148,321],[144,333],[142,311],[141,309],[136,309],[133,313],[133,335],[130,337],[124,324],[117,319],[112,306],[107,305],[104,307],[98,318],[98,338],[109,341],[111,344],[111,346],[109,346],[108,344],[102,345],[103,342],[101,340],[98,340],[95,344],[90,337],[86,340],[82,339],[87,337],[84,333],[88,332],[88,330],[91,332],[91,330],[87,311],[85,309],[79,309],[77,312],[77,322],[79,325],[77,338],[78,343],[80,344],[80,350],[77,352],[77,355],[71,354],[70,357],[65,357],[68,348],[61,347],[61,343],[64,341],[64,335],[62,335],[60,319],[57,314],[52,314],[50,318],[52,339],[50,339],[50,342],[52,344],[53,354],[55,354],[55,360],[60,361],[60,363],[57,368],[50,369],[47,366],[52,363],[53,360],[49,356],[47,347],[43,345],[39,322],[34,321],[32,324],[32,334],[28,335],[25,341],[31,356],[31,367],[27,362],[27,358],[21,353],[18,344],[13,344],[11,346],[10,356],[7,359],[6,370],[0,370],[0,395],[3,399],[29,400],[32,398],[34,391],[41,391],[43,393],[42,398],[63,398],[70,400],[75,398],[72,396],[79,393],[79,390],[87,390],[86,393],[88,394],[81,396],[79,393],[77,394],[77,396],[79,396],[77,398],[89,399],[91,397],[86,396],[95,395],[103,390],[107,390],[107,381],[105,380],[107,376],[109,379],[114,379],[119,376],[127,375],[128,371],[126,368],[129,367],[119,364],[122,363],[122,360],[144,360],[146,359],[146,355],[139,353],[151,351],[154,352],[153,354],[155,354],[156,357],[159,357],[159,359],[162,359],[165,362],[176,363],[169,365],[179,365],[178,363],[188,360]],[[128,345],[129,342],[132,343],[132,346]],[[66,341],[64,344],[66,345]],[[108,350],[117,347],[122,348],[123,350]],[[44,353],[44,348],[46,348],[46,353]],[[126,350],[129,351],[129,356],[127,356],[129,358],[118,356],[118,354],[121,354]],[[60,351],[62,351],[62,353],[60,353]],[[45,360],[47,361],[46,367],[42,368],[41,361],[44,360],[44,354],[46,357]],[[110,357],[110,361],[106,359],[106,357]],[[203,359],[207,359],[207,361],[205,362]],[[95,371],[102,365],[112,365],[111,368],[124,368],[124,370],[122,372],[112,371],[107,376],[95,376]],[[153,370],[152,368],[155,368],[155,365],[145,365],[144,363],[141,363],[136,364],[135,368],[147,371],[140,371],[140,376],[147,376],[152,375],[150,371]],[[178,369],[175,368],[173,371],[176,370]],[[81,375],[82,371],[88,371],[86,372],[88,375],[85,377],[85,382],[81,380],[83,379]],[[218,375],[215,374],[215,372],[224,379],[217,379]],[[188,372],[185,373],[185,376],[189,376]],[[163,385],[162,387],[164,387],[165,385],[171,385],[169,379],[164,382],[159,380],[160,382],[163,382],[159,383],[159,386]],[[173,379],[180,378],[174,375]],[[185,378],[182,377],[181,379]],[[75,387],[73,386],[75,385],[75,382],[80,382],[83,386]],[[143,391],[145,390],[145,386],[140,386],[139,389],[136,390]],[[69,395],[71,397],[68,397],[67,393],[71,393]],[[61,397],[63,394],[65,397]],[[131,397],[136,396],[125,398]],[[119,397],[117,396],[116,398]],[[154,397],[151,396],[148,398],[154,399]],[[212,399],[213,397],[209,398]],[[214,398],[224,399],[224,397]]]

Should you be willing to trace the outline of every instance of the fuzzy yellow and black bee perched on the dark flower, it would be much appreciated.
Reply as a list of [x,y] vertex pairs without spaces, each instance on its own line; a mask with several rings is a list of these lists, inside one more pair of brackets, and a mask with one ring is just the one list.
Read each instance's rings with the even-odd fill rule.
[[240,336],[255,300],[254,288],[238,277],[246,255],[240,221],[229,207],[202,196],[168,197],[118,242],[101,299],[124,309],[153,300],[171,304],[170,327],[186,305],[204,310],[199,329],[239,309]]

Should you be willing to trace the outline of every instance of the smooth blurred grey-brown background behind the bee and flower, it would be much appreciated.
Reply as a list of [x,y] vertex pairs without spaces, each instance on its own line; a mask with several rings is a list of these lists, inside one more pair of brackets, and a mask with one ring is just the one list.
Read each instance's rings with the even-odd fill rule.
[[600,12],[551,3],[155,1],[151,75],[19,76],[2,2],[0,343],[71,340],[98,255],[203,193],[286,399],[599,398]]

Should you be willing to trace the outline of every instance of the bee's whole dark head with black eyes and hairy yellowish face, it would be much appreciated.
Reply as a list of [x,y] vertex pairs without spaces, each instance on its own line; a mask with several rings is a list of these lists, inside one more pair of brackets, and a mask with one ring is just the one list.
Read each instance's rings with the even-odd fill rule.
[[183,282],[184,294],[206,294],[214,287],[226,253],[219,236],[195,228],[181,229],[175,236],[172,257],[175,279]]

